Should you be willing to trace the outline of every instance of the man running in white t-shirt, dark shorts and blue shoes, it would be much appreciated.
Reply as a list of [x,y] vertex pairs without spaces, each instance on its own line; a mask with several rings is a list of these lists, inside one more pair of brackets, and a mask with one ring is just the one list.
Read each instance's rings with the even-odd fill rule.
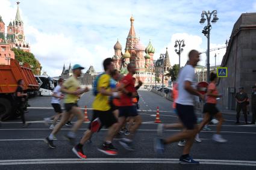
[[183,149],[183,155],[180,157],[180,163],[199,164],[198,161],[193,160],[189,155],[190,148],[192,147],[196,133],[198,132],[196,114],[193,106],[193,95],[204,99],[204,96],[195,89],[195,67],[199,61],[199,55],[200,54],[197,50],[191,50],[189,52],[188,64],[181,70],[178,77],[179,96],[176,100],[176,109],[181,123],[183,123],[186,129],[183,130],[183,132],[176,133],[167,139],[157,138],[155,143],[155,150],[157,153],[163,153],[164,145],[178,142],[181,139],[186,139],[186,145]]

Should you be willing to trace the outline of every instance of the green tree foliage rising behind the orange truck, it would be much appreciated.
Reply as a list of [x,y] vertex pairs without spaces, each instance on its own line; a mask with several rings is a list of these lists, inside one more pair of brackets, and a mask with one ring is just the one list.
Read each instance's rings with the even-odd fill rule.
[[[23,62],[23,63],[28,63],[30,65],[33,65],[33,68],[31,68],[33,70],[33,74],[41,74],[41,64],[40,62],[35,58],[34,54],[31,52],[24,52],[23,50],[20,49],[11,49],[14,52],[15,55],[15,59],[19,62]],[[40,71],[37,71],[37,68],[40,69]]]

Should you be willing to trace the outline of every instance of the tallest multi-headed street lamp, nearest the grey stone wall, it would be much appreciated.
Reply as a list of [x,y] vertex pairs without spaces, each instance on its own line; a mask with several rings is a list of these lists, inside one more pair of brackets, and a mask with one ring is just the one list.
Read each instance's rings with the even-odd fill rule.
[[[211,16],[213,15],[213,20],[211,20]],[[205,19],[206,17],[206,19]],[[207,20],[207,26],[204,27],[202,30],[202,34],[207,37],[207,82],[210,82],[210,31],[211,31],[211,23],[216,23],[219,18],[217,17],[217,11],[213,10],[211,13],[210,11],[202,11],[201,20],[199,23],[203,24]]]

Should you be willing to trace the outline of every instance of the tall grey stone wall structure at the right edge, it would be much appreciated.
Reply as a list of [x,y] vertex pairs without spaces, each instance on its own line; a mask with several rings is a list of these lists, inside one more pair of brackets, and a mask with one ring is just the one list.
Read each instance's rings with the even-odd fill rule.
[[[221,67],[228,67],[228,77],[220,78],[223,109],[236,109],[235,94],[239,87],[251,97],[256,83],[256,13],[244,13],[234,24]],[[251,108],[251,107],[250,107]]]

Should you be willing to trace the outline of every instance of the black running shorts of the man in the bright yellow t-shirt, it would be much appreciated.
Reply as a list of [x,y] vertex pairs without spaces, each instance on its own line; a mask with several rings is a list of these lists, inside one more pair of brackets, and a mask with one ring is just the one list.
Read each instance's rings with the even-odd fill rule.
[[[99,129],[101,129],[103,126],[108,128],[112,126],[112,124],[117,123],[116,117],[114,116],[113,111],[111,111],[111,109],[108,111],[93,110],[93,117],[91,123],[96,118],[99,118],[99,120],[101,121],[101,127]],[[89,129],[91,128],[91,123],[89,124]]]

